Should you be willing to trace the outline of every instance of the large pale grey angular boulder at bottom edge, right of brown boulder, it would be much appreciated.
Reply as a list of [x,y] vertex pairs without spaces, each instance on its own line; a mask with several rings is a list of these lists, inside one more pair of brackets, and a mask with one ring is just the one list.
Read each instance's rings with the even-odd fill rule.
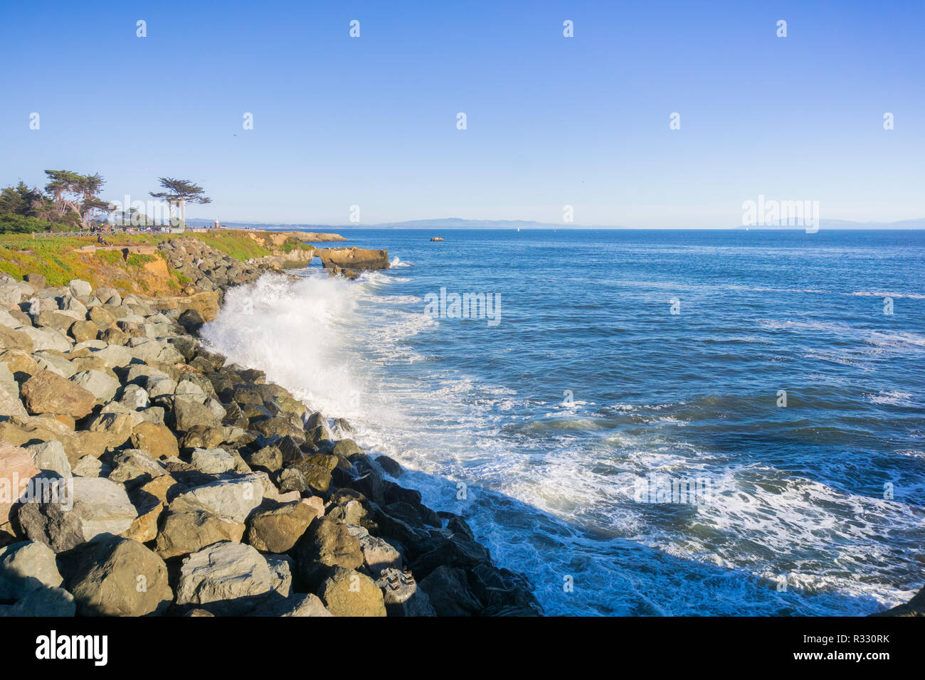
[[233,605],[234,600],[264,594],[272,587],[273,575],[257,550],[244,543],[216,543],[183,560],[177,604]]

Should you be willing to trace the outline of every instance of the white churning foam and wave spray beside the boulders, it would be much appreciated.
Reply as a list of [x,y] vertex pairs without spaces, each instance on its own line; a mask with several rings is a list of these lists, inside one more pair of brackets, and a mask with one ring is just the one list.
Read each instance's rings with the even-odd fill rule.
[[[381,272],[357,281],[267,274],[228,291],[203,338],[327,417],[348,418],[361,445],[406,468],[402,484],[421,490],[427,505],[466,516],[500,565],[528,575],[547,612],[838,614],[905,599],[884,585],[891,558],[882,533],[920,525],[920,509],[774,470],[759,471],[759,480],[775,480],[762,486],[753,467],[660,439],[666,428],[616,434],[584,409],[524,419],[515,415],[528,412],[516,390],[411,347],[439,324],[415,311],[417,298],[389,296],[388,281]],[[672,416],[657,422],[684,425]],[[709,477],[717,497],[696,509],[632,501],[633,485],[652,471]],[[658,520],[665,513],[671,521]],[[846,516],[863,519],[846,525]],[[835,559],[812,563],[808,551]],[[796,575],[791,592],[761,580],[781,561]],[[882,576],[871,576],[880,563]],[[585,597],[565,594],[563,575],[574,575]]]

